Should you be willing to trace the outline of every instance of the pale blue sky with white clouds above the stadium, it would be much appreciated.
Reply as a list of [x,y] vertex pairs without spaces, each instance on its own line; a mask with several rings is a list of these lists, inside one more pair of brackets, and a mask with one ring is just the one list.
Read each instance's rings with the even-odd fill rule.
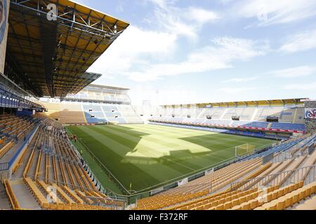
[[316,99],[316,0],[78,0],[131,25],[89,71],[134,104]]

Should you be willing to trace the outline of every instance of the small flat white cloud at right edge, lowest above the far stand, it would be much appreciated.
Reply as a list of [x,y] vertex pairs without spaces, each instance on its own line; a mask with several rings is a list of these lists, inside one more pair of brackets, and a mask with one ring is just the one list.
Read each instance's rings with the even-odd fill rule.
[[289,69],[275,70],[275,71],[271,71],[270,73],[274,76],[281,77],[281,78],[296,78],[296,77],[310,76],[315,71],[316,71],[316,67],[298,66],[298,67],[289,68]]

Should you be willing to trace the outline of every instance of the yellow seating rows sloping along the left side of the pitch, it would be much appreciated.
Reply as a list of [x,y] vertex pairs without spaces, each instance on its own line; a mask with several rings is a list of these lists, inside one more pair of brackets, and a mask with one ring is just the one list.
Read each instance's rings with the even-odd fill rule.
[[[114,205],[116,208],[123,206],[124,202],[108,200],[107,196],[98,193],[95,183],[71,149],[60,123],[46,119],[31,145],[33,147],[25,153],[25,163],[18,169],[24,170],[23,181],[42,209],[113,209]],[[48,186],[54,186],[58,192],[53,204],[44,197],[50,193]],[[88,196],[91,194],[93,197]],[[98,206],[95,206],[96,200]],[[105,203],[110,203],[110,207]]]

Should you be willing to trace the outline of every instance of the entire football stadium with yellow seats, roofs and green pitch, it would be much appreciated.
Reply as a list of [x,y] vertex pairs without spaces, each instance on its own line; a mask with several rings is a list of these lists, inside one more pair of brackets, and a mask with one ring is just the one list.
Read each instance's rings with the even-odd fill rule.
[[136,105],[90,70],[131,25],[0,0],[0,210],[315,210],[315,93]]

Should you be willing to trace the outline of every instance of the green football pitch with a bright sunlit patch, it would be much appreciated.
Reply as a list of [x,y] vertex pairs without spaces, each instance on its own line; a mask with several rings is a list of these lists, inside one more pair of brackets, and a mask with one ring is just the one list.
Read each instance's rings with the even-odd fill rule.
[[152,190],[220,165],[235,158],[235,146],[259,148],[274,142],[162,125],[68,126],[67,130],[77,135],[74,145],[98,180],[119,194],[124,188]]

